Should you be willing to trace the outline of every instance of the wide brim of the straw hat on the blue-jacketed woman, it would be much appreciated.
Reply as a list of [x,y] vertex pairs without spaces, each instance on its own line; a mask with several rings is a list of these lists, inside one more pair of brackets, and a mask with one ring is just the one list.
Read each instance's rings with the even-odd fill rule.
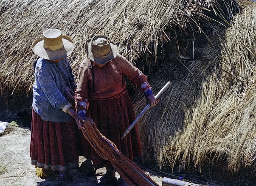
[[44,48],[44,38],[39,38],[32,43],[33,52],[46,60],[60,60],[68,57],[73,52],[74,44],[70,37],[62,36],[62,49],[51,51]]

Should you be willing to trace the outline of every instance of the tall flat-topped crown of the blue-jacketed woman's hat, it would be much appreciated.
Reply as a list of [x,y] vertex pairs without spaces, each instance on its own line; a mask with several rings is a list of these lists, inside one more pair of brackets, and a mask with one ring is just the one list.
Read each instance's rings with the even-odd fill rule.
[[48,29],[43,33],[44,48],[57,51],[63,48],[62,33],[58,29]]

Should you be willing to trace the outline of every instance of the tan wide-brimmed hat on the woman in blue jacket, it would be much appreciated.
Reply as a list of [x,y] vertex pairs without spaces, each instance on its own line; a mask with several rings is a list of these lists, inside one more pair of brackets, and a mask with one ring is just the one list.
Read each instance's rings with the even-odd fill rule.
[[68,36],[62,36],[58,29],[48,29],[43,33],[43,37],[32,43],[33,52],[47,60],[60,60],[74,49],[73,41]]

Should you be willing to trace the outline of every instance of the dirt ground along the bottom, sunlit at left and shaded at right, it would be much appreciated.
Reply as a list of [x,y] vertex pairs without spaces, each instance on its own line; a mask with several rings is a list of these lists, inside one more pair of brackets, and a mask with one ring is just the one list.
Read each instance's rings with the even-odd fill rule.
[[[96,176],[85,176],[78,170],[71,170],[70,174],[74,181],[62,181],[57,175],[49,178],[38,178],[35,174],[35,167],[31,165],[29,156],[31,131],[30,127],[21,127],[17,124],[6,128],[3,134],[0,134],[0,186],[98,186],[98,179],[104,175],[106,170],[101,168],[97,170]],[[79,158],[79,165],[86,159]],[[3,166],[6,167],[3,169]],[[219,169],[206,167],[204,173],[179,172],[170,170],[159,170],[155,165],[140,165],[150,177],[162,185],[164,177],[172,179],[181,179],[205,186],[256,186],[256,175],[251,175],[250,170],[239,175],[230,175],[230,173],[220,172]],[[4,172],[4,173],[3,173]],[[217,172],[217,174],[216,174]],[[119,178],[116,172],[117,179]],[[111,186],[123,186],[121,184],[110,184]],[[108,186],[110,186],[108,185]],[[101,185],[104,186],[104,185]]]

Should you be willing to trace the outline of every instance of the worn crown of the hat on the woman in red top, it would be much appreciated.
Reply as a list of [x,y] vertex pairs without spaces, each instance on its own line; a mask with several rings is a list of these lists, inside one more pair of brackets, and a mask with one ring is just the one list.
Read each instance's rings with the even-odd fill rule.
[[107,36],[98,35],[92,41],[92,53],[98,57],[104,57],[111,52],[110,41]]

